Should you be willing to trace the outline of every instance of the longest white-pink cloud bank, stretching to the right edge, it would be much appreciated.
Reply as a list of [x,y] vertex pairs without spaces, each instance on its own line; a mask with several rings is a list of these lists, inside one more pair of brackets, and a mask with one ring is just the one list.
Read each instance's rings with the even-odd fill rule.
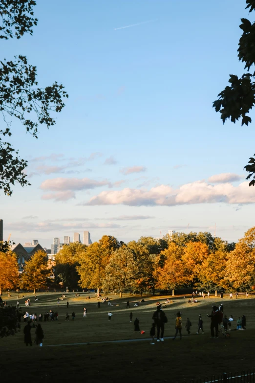
[[169,185],[152,187],[150,190],[125,188],[103,191],[81,205],[174,206],[194,203],[255,203],[255,192],[249,182],[238,186],[231,183],[211,185],[195,181],[173,189]]

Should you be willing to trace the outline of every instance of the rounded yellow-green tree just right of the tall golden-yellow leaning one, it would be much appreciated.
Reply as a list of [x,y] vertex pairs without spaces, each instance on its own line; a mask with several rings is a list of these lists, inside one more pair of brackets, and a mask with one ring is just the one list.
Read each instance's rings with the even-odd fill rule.
[[136,291],[138,289],[139,264],[135,252],[131,248],[122,246],[115,250],[106,266],[103,288],[106,291],[120,293]]

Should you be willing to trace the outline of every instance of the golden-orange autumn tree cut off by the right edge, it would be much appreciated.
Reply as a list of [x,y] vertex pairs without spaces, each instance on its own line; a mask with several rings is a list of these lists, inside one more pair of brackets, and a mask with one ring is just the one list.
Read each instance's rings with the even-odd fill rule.
[[225,287],[250,290],[255,285],[255,227],[249,229],[227,257]]

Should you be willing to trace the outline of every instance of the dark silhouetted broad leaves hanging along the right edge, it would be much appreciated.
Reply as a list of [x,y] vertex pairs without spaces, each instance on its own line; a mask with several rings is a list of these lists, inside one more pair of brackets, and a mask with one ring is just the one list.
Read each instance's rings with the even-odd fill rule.
[[[250,13],[255,10],[255,1],[246,0],[246,9]],[[245,64],[244,69],[250,70],[255,65],[255,23],[247,19],[241,19],[240,28],[243,33],[239,40],[238,58]],[[241,118],[242,125],[252,122],[249,116],[250,111],[255,105],[255,71],[244,73],[240,78],[230,74],[230,86],[227,86],[218,94],[218,99],[213,102],[213,108],[221,114],[223,123],[230,119],[232,122]],[[250,164],[250,165],[249,165]],[[250,158],[249,164],[244,168],[250,174],[246,178],[250,181],[249,185],[255,185],[255,160]]]

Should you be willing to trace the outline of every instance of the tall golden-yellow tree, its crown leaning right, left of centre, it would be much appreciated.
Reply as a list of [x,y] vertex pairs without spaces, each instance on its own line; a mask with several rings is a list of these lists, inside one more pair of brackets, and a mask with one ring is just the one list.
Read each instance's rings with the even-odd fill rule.
[[120,246],[119,241],[110,235],[104,235],[98,242],[89,245],[82,255],[81,265],[77,266],[79,285],[83,288],[97,288],[99,293],[110,256]]

